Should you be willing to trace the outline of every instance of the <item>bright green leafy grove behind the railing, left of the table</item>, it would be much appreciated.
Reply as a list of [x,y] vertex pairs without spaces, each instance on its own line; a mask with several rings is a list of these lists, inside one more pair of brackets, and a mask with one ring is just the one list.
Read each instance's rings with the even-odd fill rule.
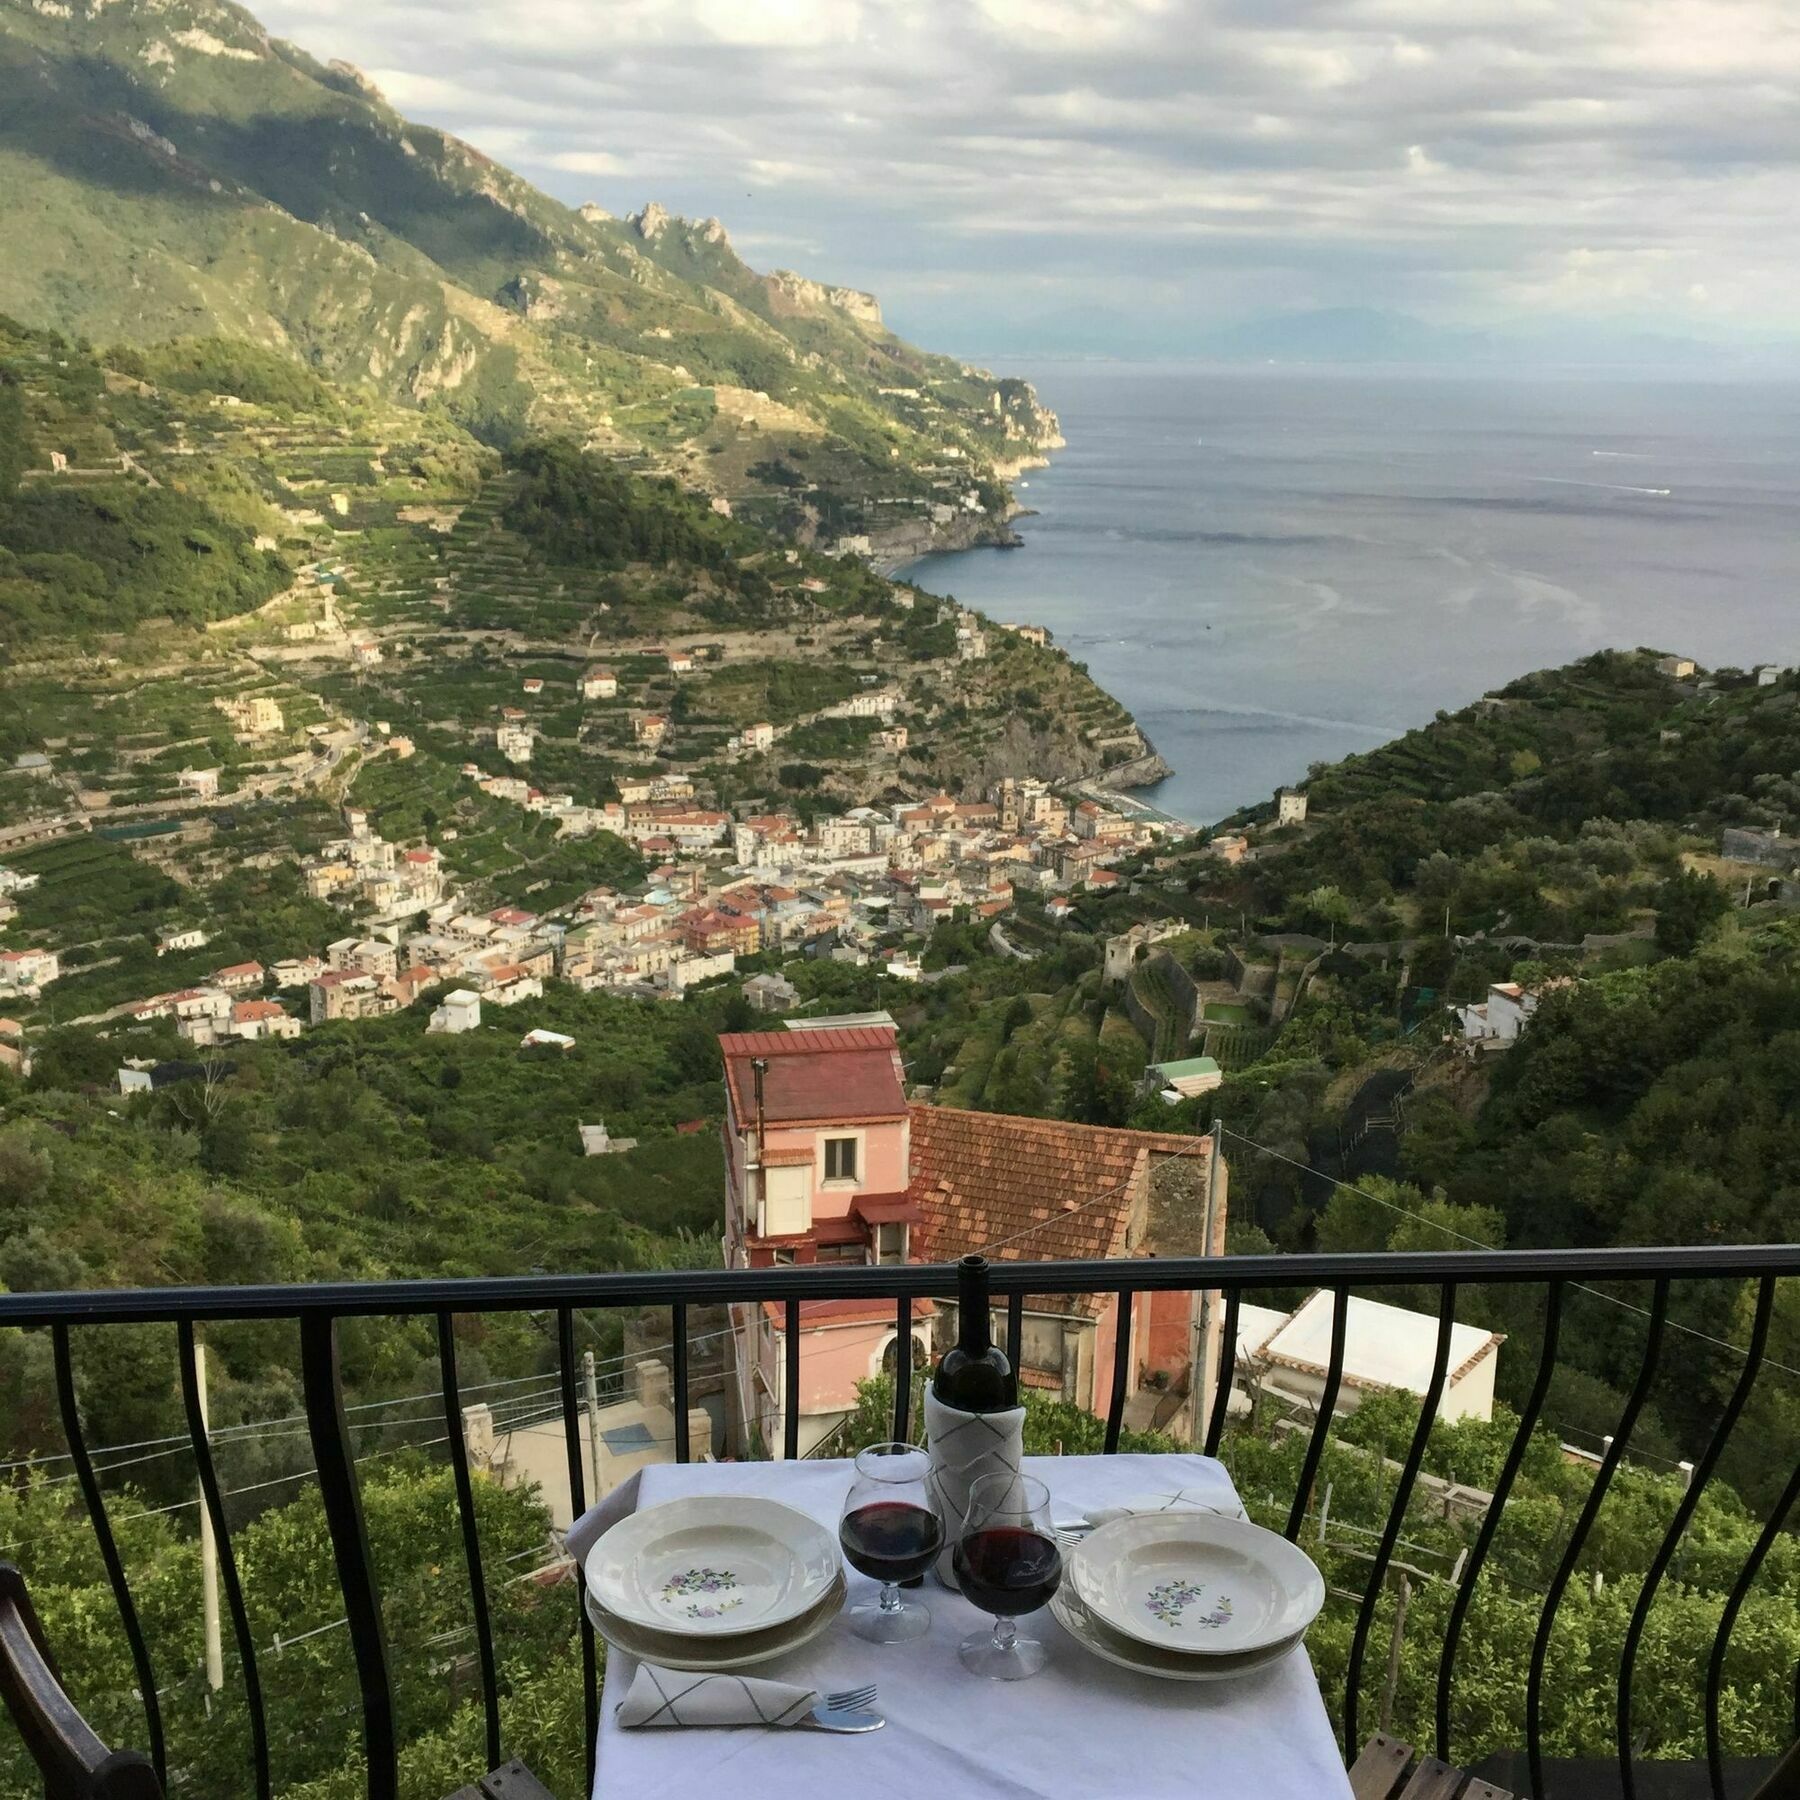
[[[236,1487],[254,1442],[218,1447],[221,1485]],[[423,1453],[391,1449],[365,1458],[362,1478],[369,1548],[383,1589],[389,1667],[396,1683],[405,1800],[441,1800],[484,1771],[481,1706],[441,1676],[445,1654],[473,1649],[468,1579],[450,1471]],[[203,1669],[200,1552],[182,1514],[155,1512],[140,1490],[122,1489],[115,1517],[131,1595],[155,1667],[171,1764],[200,1795],[250,1791],[250,1721],[225,1627],[225,1688],[209,1696]],[[495,1570],[529,1573],[551,1561],[549,1519],[529,1490],[475,1483],[482,1557]],[[0,1543],[29,1571],[40,1613],[54,1622],[56,1656],[70,1692],[106,1742],[144,1742],[135,1672],[117,1629],[112,1588],[94,1534],[68,1508],[67,1483],[32,1478],[0,1489]],[[353,1800],[364,1791],[362,1703],[349,1633],[335,1629],[344,1600],[331,1559],[324,1507],[299,1485],[290,1505],[234,1532],[250,1634],[268,1719],[277,1793],[302,1800]],[[581,1658],[569,1589],[544,1591],[515,1579],[490,1580],[490,1609],[504,1688],[502,1724],[511,1753],[556,1791],[581,1786]],[[281,1645],[277,1651],[275,1645]],[[0,1741],[0,1789],[34,1789],[18,1735]]]

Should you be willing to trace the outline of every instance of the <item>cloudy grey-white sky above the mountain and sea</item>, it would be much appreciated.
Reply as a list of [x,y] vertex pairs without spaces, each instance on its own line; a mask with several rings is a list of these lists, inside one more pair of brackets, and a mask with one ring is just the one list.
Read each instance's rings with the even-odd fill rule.
[[569,202],[965,351],[1375,306],[1789,335],[1791,0],[265,0]]

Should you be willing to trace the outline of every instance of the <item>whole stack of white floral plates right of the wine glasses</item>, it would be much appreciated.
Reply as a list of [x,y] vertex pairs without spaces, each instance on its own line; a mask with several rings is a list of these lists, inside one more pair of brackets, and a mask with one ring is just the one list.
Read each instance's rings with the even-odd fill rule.
[[1181,1508],[1102,1525],[1071,1553],[1049,1602],[1109,1663],[1166,1681],[1229,1681],[1292,1651],[1325,1604],[1325,1577],[1247,1519]]

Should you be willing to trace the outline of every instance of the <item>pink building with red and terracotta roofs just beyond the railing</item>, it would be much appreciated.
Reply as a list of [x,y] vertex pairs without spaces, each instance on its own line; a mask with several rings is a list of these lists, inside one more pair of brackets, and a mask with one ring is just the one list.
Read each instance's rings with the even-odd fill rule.
[[[1222,1253],[1226,1170],[1208,1138],[907,1105],[893,1026],[747,1031],[725,1058],[725,1265],[819,1262],[1109,1260]],[[1179,1431],[1179,1388],[1199,1346],[1215,1361],[1220,1309],[1192,1294],[1139,1296],[1129,1391]],[[914,1368],[949,1341],[954,1303],[916,1301]],[[1118,1301],[1026,1296],[1021,1382],[1076,1406],[1112,1391]],[[767,1451],[781,1442],[785,1316],[734,1314],[738,1409]],[[995,1319],[999,1328],[1001,1319]],[[891,1368],[891,1301],[801,1307],[799,1445],[805,1454]]]

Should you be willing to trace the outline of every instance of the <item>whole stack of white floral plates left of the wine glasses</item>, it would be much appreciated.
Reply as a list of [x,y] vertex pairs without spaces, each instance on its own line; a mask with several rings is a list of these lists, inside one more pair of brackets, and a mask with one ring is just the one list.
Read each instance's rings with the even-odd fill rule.
[[628,1656],[724,1670],[810,1643],[844,1604],[837,1543],[772,1499],[646,1507],[587,1553],[587,1616]]

